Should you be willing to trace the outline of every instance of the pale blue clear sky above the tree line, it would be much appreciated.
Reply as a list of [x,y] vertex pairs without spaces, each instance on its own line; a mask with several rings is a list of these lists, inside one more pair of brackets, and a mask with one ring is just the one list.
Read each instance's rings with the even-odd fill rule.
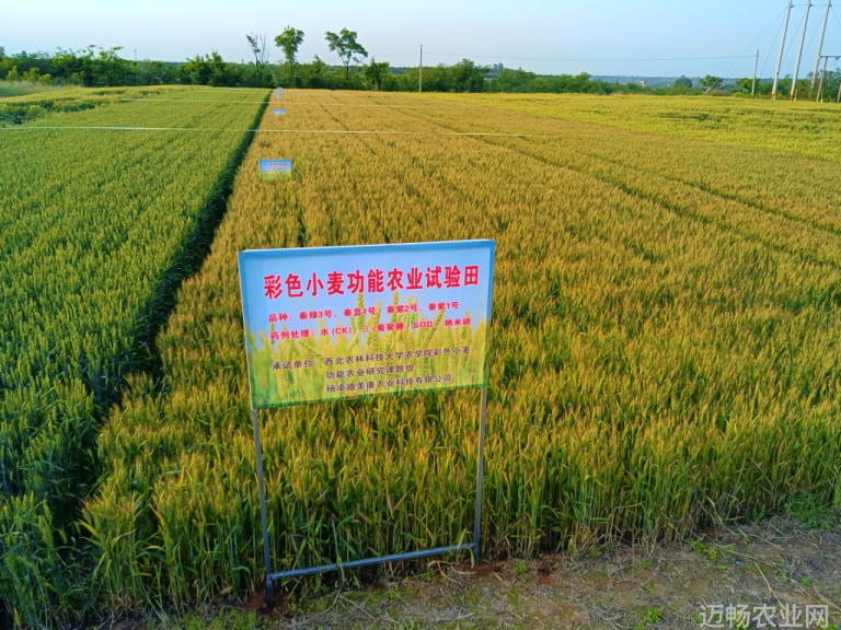
[[[802,77],[815,63],[825,4],[816,0],[809,14]],[[0,46],[8,54],[123,46],[124,57],[166,61],[214,49],[240,61],[250,57],[245,34],[272,42],[291,25],[304,32],[299,60],[337,63],[324,33],[347,27],[392,66],[417,66],[423,45],[425,66],[470,57],[543,74],[747,77],[759,49],[759,74],[771,77],[784,10],[784,0],[0,0]],[[783,75],[793,71],[804,14],[797,0]],[[823,51],[841,55],[841,1]]]

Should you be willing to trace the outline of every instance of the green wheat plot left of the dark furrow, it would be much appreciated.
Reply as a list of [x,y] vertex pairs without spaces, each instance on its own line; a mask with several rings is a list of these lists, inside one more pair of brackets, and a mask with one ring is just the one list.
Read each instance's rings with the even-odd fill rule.
[[97,431],[125,376],[154,364],[266,98],[161,88],[0,104],[0,626],[3,608],[27,628],[85,612],[78,520]]

